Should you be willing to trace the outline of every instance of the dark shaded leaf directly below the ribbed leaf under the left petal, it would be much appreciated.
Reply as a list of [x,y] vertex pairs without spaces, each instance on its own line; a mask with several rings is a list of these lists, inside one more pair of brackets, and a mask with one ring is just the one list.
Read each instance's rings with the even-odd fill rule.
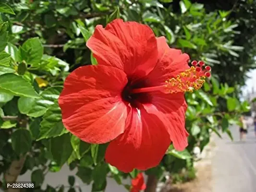
[[58,166],[62,166],[72,154],[73,148],[70,139],[69,133],[51,138],[50,150]]

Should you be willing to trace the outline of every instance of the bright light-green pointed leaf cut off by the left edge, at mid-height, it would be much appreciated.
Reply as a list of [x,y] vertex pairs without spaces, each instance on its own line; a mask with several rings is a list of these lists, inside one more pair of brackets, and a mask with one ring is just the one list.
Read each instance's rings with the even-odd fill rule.
[[31,84],[21,76],[13,73],[0,75],[0,90],[14,96],[39,97]]

